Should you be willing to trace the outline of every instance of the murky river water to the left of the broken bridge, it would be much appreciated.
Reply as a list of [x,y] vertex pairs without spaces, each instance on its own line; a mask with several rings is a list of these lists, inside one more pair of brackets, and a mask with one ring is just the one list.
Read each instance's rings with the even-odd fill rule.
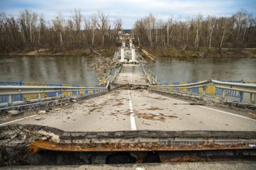
[[96,86],[96,73],[88,66],[93,57],[28,57],[0,58],[0,81],[43,81],[50,83]]

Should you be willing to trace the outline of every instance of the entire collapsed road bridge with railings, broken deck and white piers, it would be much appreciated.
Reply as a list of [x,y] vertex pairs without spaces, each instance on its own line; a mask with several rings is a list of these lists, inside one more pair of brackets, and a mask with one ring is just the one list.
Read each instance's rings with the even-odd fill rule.
[[1,165],[255,160],[256,81],[161,84],[133,39],[100,86],[2,81]]

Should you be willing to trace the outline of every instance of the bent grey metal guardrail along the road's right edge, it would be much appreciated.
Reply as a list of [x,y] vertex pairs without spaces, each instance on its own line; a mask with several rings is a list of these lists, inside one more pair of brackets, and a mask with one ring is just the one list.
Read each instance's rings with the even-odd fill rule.
[[[226,97],[227,91],[239,91],[240,93],[250,94],[250,104],[256,105],[256,84],[243,84],[234,82],[225,82],[217,80],[205,80],[191,84],[179,84],[179,85],[150,85],[149,89],[151,91],[161,91],[161,92],[181,92],[187,94],[193,94],[194,88],[202,88],[203,96],[206,96],[206,91],[208,86],[212,86],[215,89],[220,89],[222,98]],[[200,94],[199,91],[196,94]],[[213,94],[214,97],[214,94]]]

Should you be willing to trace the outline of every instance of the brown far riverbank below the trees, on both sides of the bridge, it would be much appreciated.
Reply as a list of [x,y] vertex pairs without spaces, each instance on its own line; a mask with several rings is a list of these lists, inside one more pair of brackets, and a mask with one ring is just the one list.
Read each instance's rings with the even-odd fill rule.
[[[242,48],[242,49],[228,49],[223,48],[222,52],[218,52],[215,48],[201,49],[199,52],[192,50],[177,50],[172,48],[144,48],[152,55],[156,57],[256,57],[256,48]],[[106,57],[114,55],[113,48],[97,49],[97,52]],[[70,50],[52,52],[47,50],[33,50],[28,52],[11,52],[11,53],[0,53],[1,56],[31,56],[31,57],[50,57],[50,56],[94,56],[97,55],[88,49],[85,50]]]

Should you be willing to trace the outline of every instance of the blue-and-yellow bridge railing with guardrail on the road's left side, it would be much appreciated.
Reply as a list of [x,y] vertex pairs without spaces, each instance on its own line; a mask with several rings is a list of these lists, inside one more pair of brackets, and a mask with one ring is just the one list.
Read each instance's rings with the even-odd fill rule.
[[[32,95],[31,99],[37,99],[37,102],[42,101],[43,98],[70,98],[74,96],[91,96],[96,94],[106,93],[108,91],[106,86],[103,87],[80,87],[80,86],[55,86],[55,84],[50,84],[52,86],[0,86],[0,98],[6,98],[6,101],[1,103],[7,103],[7,107],[14,106],[14,101],[24,101],[19,102],[21,105],[30,103],[27,98],[20,97],[17,100],[16,96]],[[50,96],[49,96],[50,95]],[[1,104],[0,103],[0,104]],[[1,104],[1,107],[5,105]]]

